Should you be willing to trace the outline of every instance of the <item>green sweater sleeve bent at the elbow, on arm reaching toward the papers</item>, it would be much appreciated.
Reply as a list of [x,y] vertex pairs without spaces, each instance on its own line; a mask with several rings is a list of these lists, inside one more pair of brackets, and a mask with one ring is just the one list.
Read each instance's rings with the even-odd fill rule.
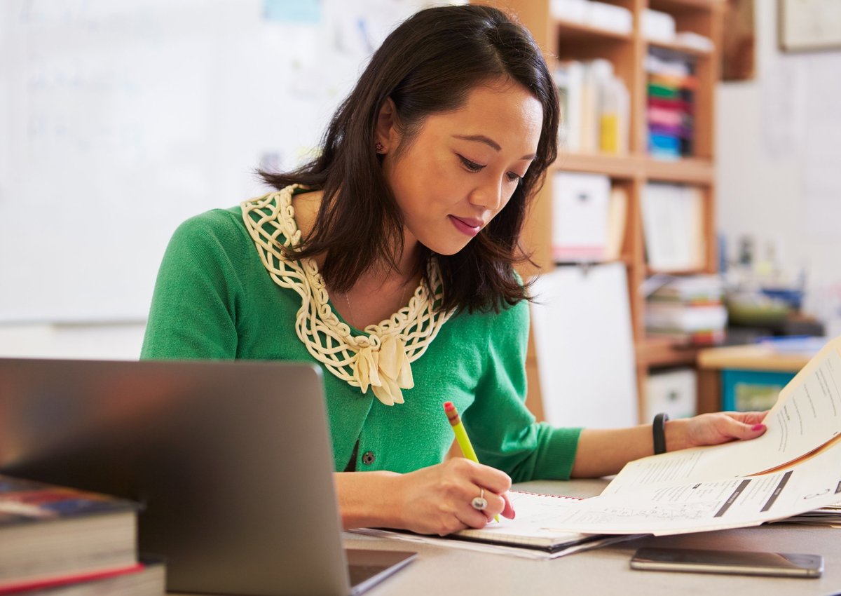
[[462,417],[479,460],[506,471],[514,482],[569,478],[581,429],[536,423],[526,408],[528,304],[487,320],[485,373]]

